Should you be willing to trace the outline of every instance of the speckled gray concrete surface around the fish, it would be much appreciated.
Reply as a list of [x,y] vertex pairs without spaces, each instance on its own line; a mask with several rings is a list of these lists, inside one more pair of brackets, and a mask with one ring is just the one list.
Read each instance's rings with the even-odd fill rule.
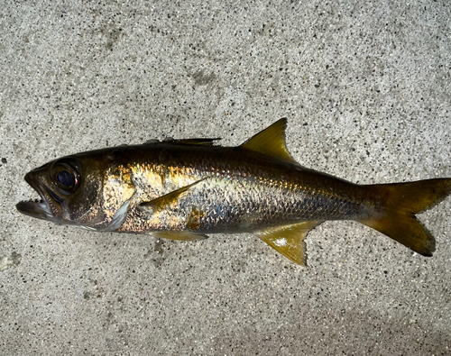
[[19,215],[28,170],[165,137],[292,155],[360,183],[451,177],[446,1],[2,1],[2,355],[449,355],[451,198],[423,258],[361,224],[300,268],[252,235],[92,233]]

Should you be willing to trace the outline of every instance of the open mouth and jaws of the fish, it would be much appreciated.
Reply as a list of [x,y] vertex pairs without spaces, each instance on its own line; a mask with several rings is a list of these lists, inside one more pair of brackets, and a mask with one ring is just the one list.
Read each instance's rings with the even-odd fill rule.
[[39,194],[41,199],[19,202],[15,207],[24,214],[41,220],[54,220],[61,210],[62,199],[37,177],[37,169],[25,175],[25,181]]

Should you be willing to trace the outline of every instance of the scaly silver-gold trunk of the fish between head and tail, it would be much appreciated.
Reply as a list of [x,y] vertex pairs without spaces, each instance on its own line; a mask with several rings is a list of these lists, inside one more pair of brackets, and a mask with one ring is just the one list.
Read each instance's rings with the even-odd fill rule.
[[[131,171],[136,188],[131,206],[139,206],[126,216],[121,232],[250,233],[281,224],[354,220],[371,214],[360,186],[238,148],[180,149],[162,142],[143,149],[140,161],[121,169]],[[353,195],[347,194],[353,189]],[[180,194],[171,199],[173,192]]]

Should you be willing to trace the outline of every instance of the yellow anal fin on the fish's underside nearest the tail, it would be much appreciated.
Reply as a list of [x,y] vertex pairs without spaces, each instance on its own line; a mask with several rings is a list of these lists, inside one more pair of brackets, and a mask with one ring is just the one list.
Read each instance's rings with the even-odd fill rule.
[[272,227],[255,233],[262,241],[280,252],[294,263],[305,266],[306,253],[304,238],[308,232],[322,222],[311,221],[286,226]]

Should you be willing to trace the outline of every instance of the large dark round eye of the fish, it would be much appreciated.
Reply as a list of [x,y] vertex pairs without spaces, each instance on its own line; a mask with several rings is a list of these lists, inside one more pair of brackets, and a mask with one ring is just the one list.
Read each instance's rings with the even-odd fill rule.
[[69,195],[77,190],[80,183],[79,167],[78,160],[72,158],[57,160],[52,164],[51,179],[61,194]]

